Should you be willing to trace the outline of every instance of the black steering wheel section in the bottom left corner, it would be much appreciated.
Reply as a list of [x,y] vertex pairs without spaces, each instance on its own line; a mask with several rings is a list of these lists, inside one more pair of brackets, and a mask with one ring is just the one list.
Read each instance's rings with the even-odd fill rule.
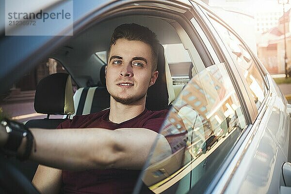
[[28,178],[2,153],[0,153],[0,189],[7,194],[40,194]]

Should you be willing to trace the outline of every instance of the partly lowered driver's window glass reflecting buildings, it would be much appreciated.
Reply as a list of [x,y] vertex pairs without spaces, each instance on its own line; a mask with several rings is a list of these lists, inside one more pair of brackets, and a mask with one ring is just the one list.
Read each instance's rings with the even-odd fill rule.
[[[173,185],[170,193],[186,193],[189,173],[193,172],[194,185],[206,172],[203,161],[234,131],[236,140],[245,125],[225,64],[207,67],[189,81],[163,123],[160,134],[172,154],[161,158],[155,147],[142,180],[156,194]],[[219,167],[219,163],[215,165]]]

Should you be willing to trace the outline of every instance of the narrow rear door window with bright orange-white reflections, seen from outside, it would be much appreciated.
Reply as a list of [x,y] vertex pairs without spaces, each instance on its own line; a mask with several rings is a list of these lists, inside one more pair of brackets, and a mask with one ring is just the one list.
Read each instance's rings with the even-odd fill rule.
[[242,42],[232,32],[228,31],[215,20],[211,19],[210,21],[226,43],[226,47],[231,51],[230,55],[236,66],[241,70],[242,75],[250,88],[251,97],[253,97],[257,109],[259,109],[259,106],[266,95],[267,87],[259,72],[258,66],[255,64],[251,54],[243,46]]

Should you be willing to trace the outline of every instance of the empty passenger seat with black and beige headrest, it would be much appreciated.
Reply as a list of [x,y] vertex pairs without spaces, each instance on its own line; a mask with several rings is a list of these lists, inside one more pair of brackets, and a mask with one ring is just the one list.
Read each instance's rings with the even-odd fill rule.
[[[48,114],[45,119],[33,119],[26,122],[28,128],[56,129],[64,119],[50,119],[50,114],[70,115],[74,113],[72,83],[69,74],[55,73],[43,78],[37,85],[34,98],[34,109],[37,113]],[[32,180],[38,163],[30,160],[20,162],[9,158],[29,180]]]

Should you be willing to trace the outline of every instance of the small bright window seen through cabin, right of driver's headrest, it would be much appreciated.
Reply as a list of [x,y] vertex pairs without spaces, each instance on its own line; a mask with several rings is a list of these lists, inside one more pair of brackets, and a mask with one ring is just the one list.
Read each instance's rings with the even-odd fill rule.
[[193,67],[189,53],[182,43],[162,45],[174,85],[186,84]]

